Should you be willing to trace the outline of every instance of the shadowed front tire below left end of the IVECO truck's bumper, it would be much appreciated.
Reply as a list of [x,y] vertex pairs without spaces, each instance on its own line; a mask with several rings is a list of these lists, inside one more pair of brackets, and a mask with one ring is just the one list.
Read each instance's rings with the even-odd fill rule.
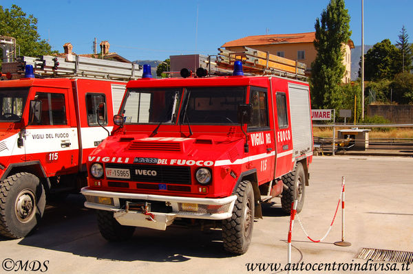
[[127,240],[134,235],[135,227],[120,225],[120,223],[114,218],[113,212],[96,210],[96,216],[98,218],[100,234],[109,242]]

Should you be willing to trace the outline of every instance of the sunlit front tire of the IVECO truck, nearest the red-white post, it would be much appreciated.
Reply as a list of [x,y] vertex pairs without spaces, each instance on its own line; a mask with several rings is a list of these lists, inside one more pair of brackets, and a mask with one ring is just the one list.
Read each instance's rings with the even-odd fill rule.
[[249,181],[242,181],[237,187],[231,218],[222,220],[224,249],[235,254],[244,254],[251,244],[254,226],[254,191]]

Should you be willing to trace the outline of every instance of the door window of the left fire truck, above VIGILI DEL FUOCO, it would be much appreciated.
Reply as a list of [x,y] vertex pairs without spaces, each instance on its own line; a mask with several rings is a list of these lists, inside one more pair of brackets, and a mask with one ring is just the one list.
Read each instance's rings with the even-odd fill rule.
[[41,101],[41,122],[37,124],[50,126],[67,124],[63,93],[38,92],[34,98]]

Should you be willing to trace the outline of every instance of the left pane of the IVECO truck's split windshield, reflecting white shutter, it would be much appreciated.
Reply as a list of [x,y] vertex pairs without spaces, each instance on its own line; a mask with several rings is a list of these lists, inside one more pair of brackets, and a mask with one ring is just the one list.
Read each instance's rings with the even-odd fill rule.
[[176,124],[182,89],[130,89],[125,124]]

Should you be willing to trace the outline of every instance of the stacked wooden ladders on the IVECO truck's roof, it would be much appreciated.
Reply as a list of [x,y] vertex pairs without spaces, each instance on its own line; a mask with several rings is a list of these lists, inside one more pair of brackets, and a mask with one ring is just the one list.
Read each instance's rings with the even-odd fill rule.
[[218,49],[217,66],[222,69],[232,69],[236,60],[242,61],[246,73],[279,74],[281,76],[305,77],[306,65],[295,60],[279,57],[268,52],[261,52],[251,47],[242,47],[237,52]]

